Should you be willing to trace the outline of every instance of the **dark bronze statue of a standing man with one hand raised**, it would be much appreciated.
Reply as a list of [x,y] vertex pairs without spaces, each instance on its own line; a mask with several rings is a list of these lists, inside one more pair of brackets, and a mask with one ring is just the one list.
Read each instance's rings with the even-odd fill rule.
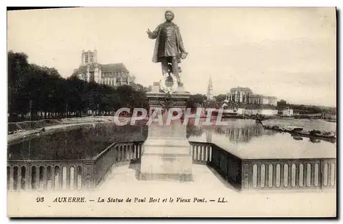
[[171,67],[170,72],[176,75],[178,82],[180,82],[178,63],[181,63],[181,59],[185,59],[188,53],[183,46],[180,29],[178,25],[172,22],[173,19],[174,13],[167,10],[165,22],[158,25],[154,32],[147,29],[147,35],[151,39],[156,39],[152,62],[161,62],[163,75],[168,74],[169,67]]

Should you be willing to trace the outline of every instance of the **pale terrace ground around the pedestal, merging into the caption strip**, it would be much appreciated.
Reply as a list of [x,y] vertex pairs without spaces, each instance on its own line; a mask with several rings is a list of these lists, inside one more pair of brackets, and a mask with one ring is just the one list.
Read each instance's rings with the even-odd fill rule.
[[[139,181],[136,169],[139,164],[113,166],[106,181],[97,190],[83,192],[9,192],[9,201],[21,201],[8,206],[8,214],[22,216],[334,216],[335,190],[319,191],[250,191],[237,192],[230,184],[205,165],[193,165],[193,182]],[[44,196],[46,203],[34,203]],[[85,197],[86,203],[53,203],[56,197]],[[132,199],[131,203],[97,203],[99,198]],[[145,203],[134,203],[134,198]],[[150,197],[160,203],[149,203]],[[191,203],[169,203],[169,198],[190,199]],[[194,198],[200,199],[195,202]],[[227,201],[217,203],[218,199]],[[90,202],[88,200],[95,200]],[[167,199],[167,203],[162,203]],[[206,202],[200,202],[202,199]],[[209,200],[213,199],[214,202]],[[187,200],[185,200],[187,201]],[[35,209],[30,205],[34,203]]]

